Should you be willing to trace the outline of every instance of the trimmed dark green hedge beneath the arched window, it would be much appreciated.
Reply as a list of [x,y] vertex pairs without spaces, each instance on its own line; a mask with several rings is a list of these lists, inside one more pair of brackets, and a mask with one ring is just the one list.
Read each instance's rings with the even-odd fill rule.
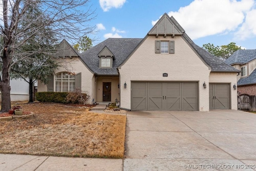
[[67,95],[68,92],[37,92],[36,99],[40,102],[68,103]]

